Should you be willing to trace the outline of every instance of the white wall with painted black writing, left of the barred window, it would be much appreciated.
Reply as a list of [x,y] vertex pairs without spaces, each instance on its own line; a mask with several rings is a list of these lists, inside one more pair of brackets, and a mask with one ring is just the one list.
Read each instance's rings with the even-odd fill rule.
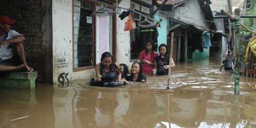
[[[73,73],[72,0],[53,0],[53,82],[61,73],[69,80],[89,78],[94,69]],[[63,62],[58,62],[62,60]]]

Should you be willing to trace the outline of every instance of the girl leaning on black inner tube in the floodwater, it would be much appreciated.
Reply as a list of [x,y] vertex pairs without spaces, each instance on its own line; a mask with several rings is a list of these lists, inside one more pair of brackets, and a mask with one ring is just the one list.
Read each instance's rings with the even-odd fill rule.
[[123,84],[121,80],[121,72],[119,64],[113,62],[112,55],[110,52],[105,52],[101,55],[101,63],[96,64],[95,67],[96,81],[119,81]]

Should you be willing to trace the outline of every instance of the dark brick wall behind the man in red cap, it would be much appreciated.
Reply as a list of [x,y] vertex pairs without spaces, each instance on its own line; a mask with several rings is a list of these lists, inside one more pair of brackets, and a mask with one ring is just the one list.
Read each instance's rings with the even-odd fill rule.
[[42,14],[42,0],[1,0],[0,15],[16,19],[12,29],[26,37],[28,64],[38,72],[38,81],[45,81]]

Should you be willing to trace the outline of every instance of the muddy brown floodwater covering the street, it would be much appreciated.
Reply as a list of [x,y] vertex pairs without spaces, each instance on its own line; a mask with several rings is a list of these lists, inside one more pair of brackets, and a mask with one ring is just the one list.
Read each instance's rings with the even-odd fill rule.
[[248,86],[256,78],[240,76],[235,95],[232,74],[219,72],[220,63],[176,64],[169,90],[167,76],[152,75],[116,88],[88,80],[0,88],[0,128],[256,128],[256,91]]

